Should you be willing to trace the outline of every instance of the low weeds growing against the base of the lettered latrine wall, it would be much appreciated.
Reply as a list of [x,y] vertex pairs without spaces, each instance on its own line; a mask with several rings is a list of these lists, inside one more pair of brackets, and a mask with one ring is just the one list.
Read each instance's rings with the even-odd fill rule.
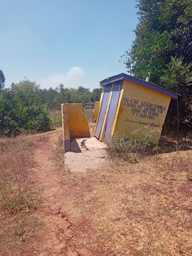
[[111,157],[120,157],[131,163],[137,162],[137,155],[147,155],[157,152],[158,142],[151,142],[156,131],[153,129],[137,129],[132,133],[134,139],[124,139],[113,136],[111,141],[106,141]]

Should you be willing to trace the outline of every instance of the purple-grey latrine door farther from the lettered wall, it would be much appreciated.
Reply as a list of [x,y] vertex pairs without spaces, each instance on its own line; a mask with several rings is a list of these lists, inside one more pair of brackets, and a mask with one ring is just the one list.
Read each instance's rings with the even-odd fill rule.
[[101,133],[101,129],[102,129],[105,113],[106,113],[106,108],[108,106],[108,101],[109,101],[109,97],[110,97],[111,88],[112,88],[112,85],[107,86],[104,89],[104,94],[103,94],[103,98],[102,98],[102,102],[101,102],[101,109],[100,109],[98,122],[97,122],[97,127],[96,127],[96,131],[95,131],[95,137],[97,139],[99,139],[99,136],[100,136],[100,133]]

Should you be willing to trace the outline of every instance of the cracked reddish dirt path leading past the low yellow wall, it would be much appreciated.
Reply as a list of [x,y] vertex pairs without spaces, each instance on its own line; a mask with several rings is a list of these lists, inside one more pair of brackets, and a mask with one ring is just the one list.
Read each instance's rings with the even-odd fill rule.
[[71,255],[89,256],[103,255],[98,246],[82,243],[83,236],[88,236],[88,220],[74,220],[65,211],[65,201],[68,200],[68,184],[63,182],[63,170],[56,171],[52,163],[52,151],[55,141],[61,132],[52,133],[46,142],[38,143],[36,148],[37,167],[35,179],[42,189],[42,205],[36,210],[35,215],[43,220],[41,235],[37,241],[22,255]]

